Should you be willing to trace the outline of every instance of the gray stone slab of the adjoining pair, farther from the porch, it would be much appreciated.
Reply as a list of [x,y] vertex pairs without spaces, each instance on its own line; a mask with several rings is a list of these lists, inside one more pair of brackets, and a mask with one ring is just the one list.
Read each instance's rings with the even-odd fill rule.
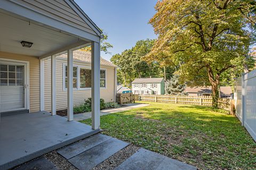
[[129,143],[111,138],[100,145],[69,159],[68,161],[78,169],[91,169],[127,145],[129,145]]

